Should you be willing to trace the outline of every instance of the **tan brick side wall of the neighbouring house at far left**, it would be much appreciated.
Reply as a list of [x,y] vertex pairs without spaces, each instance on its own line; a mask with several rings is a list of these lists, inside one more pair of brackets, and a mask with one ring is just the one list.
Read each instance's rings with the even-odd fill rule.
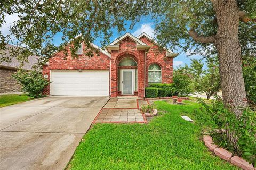
[[0,94],[21,92],[20,84],[12,77],[16,70],[0,68]]

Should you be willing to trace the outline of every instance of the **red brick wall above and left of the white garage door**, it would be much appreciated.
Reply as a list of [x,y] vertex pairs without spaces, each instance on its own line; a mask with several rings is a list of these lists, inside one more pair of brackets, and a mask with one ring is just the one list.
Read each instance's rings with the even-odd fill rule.
[[[83,47],[85,49],[85,47]],[[78,58],[72,58],[70,55],[65,60],[63,52],[59,52],[49,59],[49,64],[43,66],[43,75],[48,75],[50,81],[50,70],[109,70],[110,58],[103,53],[94,54],[93,57],[79,55]],[[50,85],[44,89],[44,94],[50,94]]]

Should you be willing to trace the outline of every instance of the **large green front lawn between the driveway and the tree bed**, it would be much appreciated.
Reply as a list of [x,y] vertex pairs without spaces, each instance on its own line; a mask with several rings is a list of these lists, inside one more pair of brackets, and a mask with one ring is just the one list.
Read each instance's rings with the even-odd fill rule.
[[157,101],[161,115],[149,124],[96,124],[77,147],[68,169],[236,169],[202,142],[211,122],[190,123],[199,105]]

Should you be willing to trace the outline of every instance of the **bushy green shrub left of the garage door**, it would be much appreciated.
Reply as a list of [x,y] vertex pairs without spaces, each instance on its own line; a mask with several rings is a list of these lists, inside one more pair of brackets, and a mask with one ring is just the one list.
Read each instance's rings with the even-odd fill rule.
[[41,97],[44,87],[50,83],[36,70],[19,70],[13,77],[21,84],[23,92],[33,98]]

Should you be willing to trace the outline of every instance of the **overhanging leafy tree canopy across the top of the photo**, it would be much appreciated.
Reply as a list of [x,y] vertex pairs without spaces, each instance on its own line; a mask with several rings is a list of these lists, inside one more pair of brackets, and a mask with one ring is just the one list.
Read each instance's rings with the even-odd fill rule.
[[[254,22],[256,16],[256,2],[254,0],[237,1],[238,7],[244,11],[246,24],[239,26],[239,40],[242,52],[255,56],[256,29]],[[1,1],[0,23],[6,23],[6,15],[18,14],[19,20],[11,27],[10,35],[0,35],[0,49],[15,37],[22,45],[24,57],[36,54],[42,58],[49,58],[56,50],[64,48],[68,40],[74,42],[73,56],[79,43],[84,41],[87,45],[87,55],[92,55],[90,44],[101,37],[102,47],[109,44],[113,28],[119,32],[124,31],[125,21],[132,21],[130,28],[141,19],[141,16],[152,16],[156,23],[156,34],[163,46],[172,49],[181,47],[192,53],[215,54],[211,44],[199,43],[193,40],[188,31],[193,28],[198,34],[211,36],[216,33],[217,22],[213,5],[210,0],[196,1],[156,1],[156,0],[108,0],[108,1]],[[247,16],[249,18],[247,18]],[[61,32],[63,43],[57,47],[52,40]],[[194,36],[197,35],[196,32]],[[79,38],[75,37],[82,35]],[[182,43],[181,40],[182,39]],[[196,46],[195,46],[196,45]],[[26,47],[26,48],[22,48]],[[196,48],[194,48],[196,47]],[[209,53],[211,52],[211,53]],[[8,61],[8,58],[1,60]],[[10,60],[9,60],[10,61]]]

